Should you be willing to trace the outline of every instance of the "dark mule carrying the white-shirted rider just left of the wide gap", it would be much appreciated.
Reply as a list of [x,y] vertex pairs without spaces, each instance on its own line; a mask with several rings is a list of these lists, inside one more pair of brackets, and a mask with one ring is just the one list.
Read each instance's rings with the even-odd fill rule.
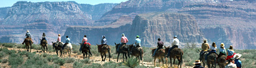
[[[165,47],[165,51],[168,52],[170,46],[169,47]],[[184,54],[184,52],[182,51],[182,49],[180,48],[173,48],[173,50],[171,50],[171,55],[169,56],[170,60],[171,58],[173,58],[173,65],[175,65],[175,59],[177,58],[177,61],[179,61],[177,67],[182,68],[182,55]],[[168,58],[168,57],[167,57]],[[172,67],[172,65],[171,65]]]

